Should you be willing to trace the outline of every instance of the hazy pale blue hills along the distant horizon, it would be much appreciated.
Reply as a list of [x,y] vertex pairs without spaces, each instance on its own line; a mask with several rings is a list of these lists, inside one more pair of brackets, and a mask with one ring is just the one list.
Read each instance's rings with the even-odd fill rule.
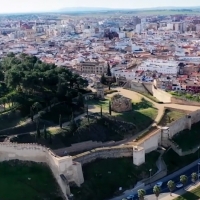
[[99,7],[69,7],[57,10],[57,12],[93,12],[93,11],[115,11],[115,10],[181,10],[181,9],[191,9],[200,10],[200,6],[196,7],[153,7],[153,8],[99,8]]

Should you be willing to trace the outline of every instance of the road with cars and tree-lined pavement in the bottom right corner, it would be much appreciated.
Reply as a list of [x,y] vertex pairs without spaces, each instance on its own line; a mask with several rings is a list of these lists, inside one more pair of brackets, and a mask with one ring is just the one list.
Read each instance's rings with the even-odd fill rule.
[[[189,169],[185,169],[185,171],[179,170],[179,171],[175,172],[174,174],[169,175],[169,176],[166,176],[166,177],[160,179],[159,181],[157,181],[157,182],[160,182],[160,181],[163,182],[162,187],[161,187],[161,194],[160,194],[160,196],[159,196],[159,199],[166,198],[167,196],[170,195],[169,189],[168,189],[168,187],[167,187],[167,182],[168,182],[169,180],[173,180],[173,181],[175,182],[175,184],[177,184],[177,183],[180,182],[180,176],[181,176],[181,175],[186,175],[186,176],[188,176],[188,182],[187,182],[187,184],[186,184],[186,187],[189,186],[189,185],[191,185],[191,184],[192,184],[192,181],[191,181],[191,174],[192,174],[193,172],[198,173],[198,165],[197,165],[197,164],[196,164],[195,166],[192,166],[192,167],[189,168]],[[172,176],[172,177],[170,177],[170,176]],[[155,182],[155,183],[152,183],[151,185],[145,186],[145,188],[141,188],[141,189],[145,189],[145,190],[146,190],[146,197],[145,197],[145,200],[155,200],[155,195],[153,194],[153,186],[154,186],[155,184],[156,184],[156,182]],[[183,188],[182,188],[181,190],[183,190]],[[180,192],[180,189],[177,189],[177,188],[176,188],[176,189],[173,191],[173,193],[177,193],[177,192]],[[137,198],[137,191],[135,191],[135,192],[131,192],[131,191],[130,191],[130,192],[126,192],[126,194],[121,195],[120,197],[115,197],[115,198],[113,198],[112,200],[121,200],[122,198],[125,198],[125,197],[127,197],[128,195],[130,195],[130,194],[133,194],[133,195],[135,196],[135,198],[133,198],[133,200],[137,200],[137,199],[138,199],[138,198]]]

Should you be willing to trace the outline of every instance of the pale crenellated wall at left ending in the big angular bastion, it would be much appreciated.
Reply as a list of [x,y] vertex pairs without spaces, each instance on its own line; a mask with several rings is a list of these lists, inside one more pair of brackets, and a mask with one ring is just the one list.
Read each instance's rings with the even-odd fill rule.
[[[78,186],[84,182],[81,164],[72,161],[71,156],[58,157],[37,144],[0,143],[0,161],[15,159],[47,163],[66,199],[70,194],[69,182],[75,182]],[[64,175],[66,180],[61,179],[60,175]]]

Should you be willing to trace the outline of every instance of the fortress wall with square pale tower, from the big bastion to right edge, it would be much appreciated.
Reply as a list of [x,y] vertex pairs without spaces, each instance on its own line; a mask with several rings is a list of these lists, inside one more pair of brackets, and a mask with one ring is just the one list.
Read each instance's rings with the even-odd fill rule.
[[200,120],[200,110],[185,115],[168,127],[162,127],[150,133],[138,142],[129,142],[127,145],[116,147],[97,148],[73,157],[73,160],[86,164],[98,158],[117,158],[133,156],[133,163],[140,165],[145,162],[145,154],[156,150],[160,145],[170,146],[169,138]]

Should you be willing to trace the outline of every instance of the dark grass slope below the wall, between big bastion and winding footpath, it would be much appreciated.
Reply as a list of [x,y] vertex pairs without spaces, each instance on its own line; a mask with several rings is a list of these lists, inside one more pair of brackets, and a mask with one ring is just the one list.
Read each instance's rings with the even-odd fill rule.
[[[146,163],[137,167],[133,158],[101,159],[83,166],[85,182],[72,188],[76,200],[103,200],[123,190],[133,188],[137,181],[149,177],[149,169],[157,171],[158,152],[146,155]],[[117,167],[116,167],[117,166]]]

